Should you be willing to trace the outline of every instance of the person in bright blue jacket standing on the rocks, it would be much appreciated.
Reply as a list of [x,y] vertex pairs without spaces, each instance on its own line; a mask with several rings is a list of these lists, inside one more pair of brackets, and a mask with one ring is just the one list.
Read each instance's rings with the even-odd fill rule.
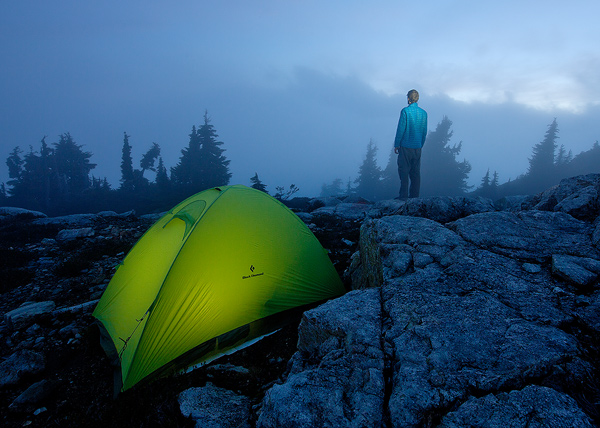
[[[400,112],[394,153],[398,154],[400,176],[399,199],[418,198],[421,187],[421,149],[427,136],[427,112],[417,104],[419,93],[411,89],[406,94],[408,106]],[[409,193],[410,179],[410,193]]]

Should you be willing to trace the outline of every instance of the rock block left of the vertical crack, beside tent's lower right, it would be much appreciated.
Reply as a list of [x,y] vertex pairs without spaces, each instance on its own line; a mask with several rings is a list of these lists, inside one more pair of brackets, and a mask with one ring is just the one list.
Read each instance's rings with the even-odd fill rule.
[[351,292],[306,312],[290,374],[267,391],[256,426],[382,426],[381,343],[376,289]]

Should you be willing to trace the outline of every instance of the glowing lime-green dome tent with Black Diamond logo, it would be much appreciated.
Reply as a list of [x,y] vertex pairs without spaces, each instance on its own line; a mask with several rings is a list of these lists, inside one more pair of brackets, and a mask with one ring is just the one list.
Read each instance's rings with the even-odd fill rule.
[[148,229],[93,316],[125,391],[205,364],[343,293],[326,251],[292,211],[264,192],[224,186]]

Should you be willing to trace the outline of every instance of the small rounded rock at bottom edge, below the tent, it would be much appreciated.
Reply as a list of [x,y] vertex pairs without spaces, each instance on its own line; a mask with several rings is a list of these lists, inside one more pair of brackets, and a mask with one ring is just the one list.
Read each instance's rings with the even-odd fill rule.
[[250,428],[250,399],[212,383],[179,394],[181,413],[198,428]]

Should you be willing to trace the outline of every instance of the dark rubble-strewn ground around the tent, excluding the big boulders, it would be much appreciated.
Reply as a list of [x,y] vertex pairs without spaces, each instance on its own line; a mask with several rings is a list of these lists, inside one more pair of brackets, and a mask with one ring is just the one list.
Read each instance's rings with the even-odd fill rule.
[[[0,209],[1,211],[1,209]],[[113,399],[113,369],[91,313],[115,267],[156,216],[0,212],[0,425],[184,427],[178,394],[198,385],[236,391],[258,404],[296,351],[296,320],[259,343],[191,373],[139,385]],[[316,216],[311,228],[340,274],[360,222]],[[35,308],[32,302],[49,306]],[[80,307],[82,306],[83,307]],[[17,314],[15,309],[30,308]]]

